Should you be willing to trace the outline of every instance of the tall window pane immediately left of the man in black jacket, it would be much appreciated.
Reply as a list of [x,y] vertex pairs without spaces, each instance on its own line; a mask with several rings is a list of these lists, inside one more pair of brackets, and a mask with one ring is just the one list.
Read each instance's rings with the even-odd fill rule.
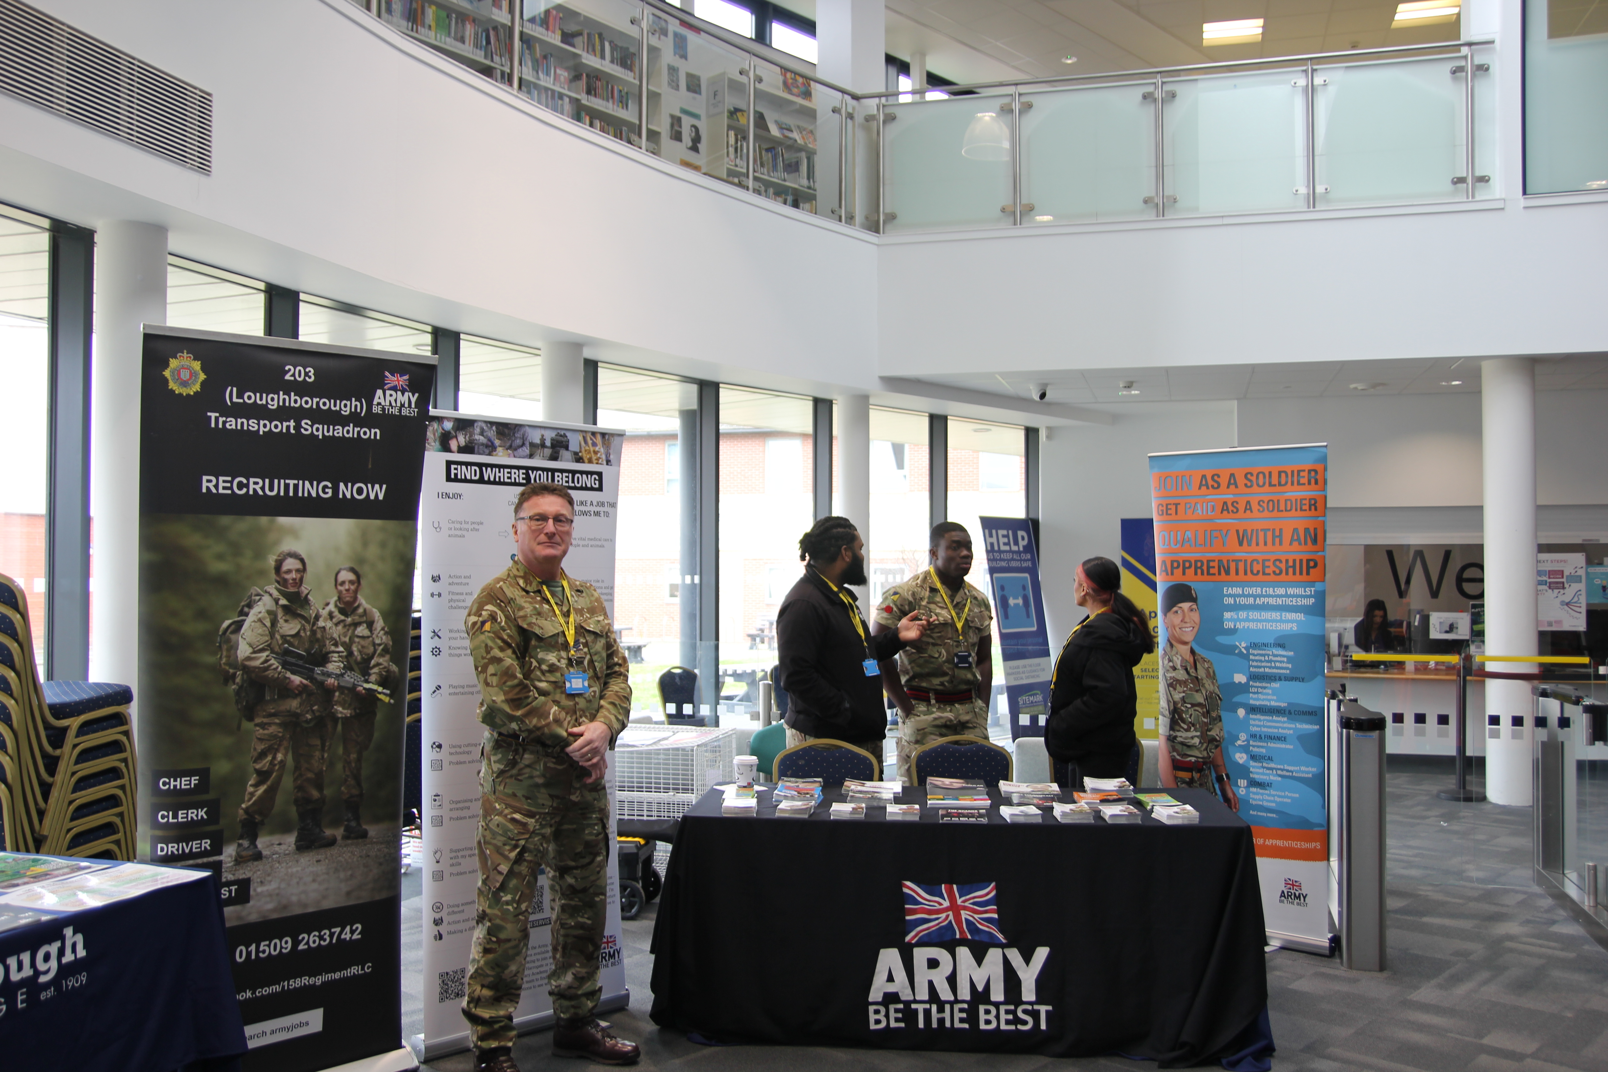
[[777,662],[777,609],[815,521],[812,431],[809,399],[720,387],[720,699],[740,717]]

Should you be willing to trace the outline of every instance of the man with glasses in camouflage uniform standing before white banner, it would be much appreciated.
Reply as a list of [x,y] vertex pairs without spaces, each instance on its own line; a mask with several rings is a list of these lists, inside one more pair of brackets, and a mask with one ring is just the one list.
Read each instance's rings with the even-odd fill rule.
[[553,1053],[632,1064],[635,1043],[595,1013],[608,906],[608,751],[630,715],[626,653],[597,590],[563,571],[576,505],[556,484],[529,484],[515,503],[516,561],[463,619],[486,723],[481,760],[481,882],[463,1016],[476,1069],[518,1072],[519,1004],[537,868],[553,902],[547,992]]

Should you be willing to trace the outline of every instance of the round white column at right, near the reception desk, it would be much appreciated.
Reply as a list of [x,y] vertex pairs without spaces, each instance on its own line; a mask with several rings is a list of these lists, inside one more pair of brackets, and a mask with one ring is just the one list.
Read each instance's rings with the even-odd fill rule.
[[[1486,653],[1536,654],[1536,370],[1528,357],[1481,365],[1486,514]],[[1528,664],[1492,670],[1532,670]],[[1531,802],[1528,681],[1486,681],[1486,797]]]

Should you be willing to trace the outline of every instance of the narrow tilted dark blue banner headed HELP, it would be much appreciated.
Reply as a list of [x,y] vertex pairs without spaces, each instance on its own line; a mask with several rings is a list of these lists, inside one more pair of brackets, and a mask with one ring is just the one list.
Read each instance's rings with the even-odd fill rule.
[[994,627],[1005,664],[1005,710],[1011,741],[1042,738],[1050,722],[1050,632],[1039,583],[1039,551],[1026,518],[978,518],[989,563]]

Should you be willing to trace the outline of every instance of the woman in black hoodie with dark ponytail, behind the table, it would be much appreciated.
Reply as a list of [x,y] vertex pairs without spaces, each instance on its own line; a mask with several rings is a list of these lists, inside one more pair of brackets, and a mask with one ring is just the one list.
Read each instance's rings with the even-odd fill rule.
[[1050,725],[1044,746],[1081,776],[1121,778],[1134,752],[1138,694],[1134,667],[1156,649],[1143,611],[1122,595],[1122,574],[1108,558],[1077,567],[1073,591],[1089,617],[1073,628],[1050,677]]

